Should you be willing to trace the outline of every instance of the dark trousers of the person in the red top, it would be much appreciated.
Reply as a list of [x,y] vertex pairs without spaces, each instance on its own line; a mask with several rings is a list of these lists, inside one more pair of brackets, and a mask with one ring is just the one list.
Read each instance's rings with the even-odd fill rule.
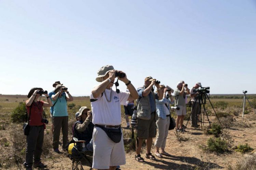
[[26,163],[28,166],[34,162],[39,162],[42,154],[44,141],[44,126],[30,126],[27,136]]

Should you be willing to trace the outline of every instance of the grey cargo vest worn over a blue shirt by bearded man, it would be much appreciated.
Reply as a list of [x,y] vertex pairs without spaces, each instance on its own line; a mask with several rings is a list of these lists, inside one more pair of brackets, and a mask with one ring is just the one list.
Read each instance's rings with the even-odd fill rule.
[[[145,86],[140,87],[145,90]],[[156,104],[155,94],[153,91],[151,91],[152,96],[154,98],[154,104]],[[136,100],[137,103],[137,118],[143,119],[143,120],[150,120],[151,119],[151,105],[149,100],[149,95],[139,97],[139,99]]]

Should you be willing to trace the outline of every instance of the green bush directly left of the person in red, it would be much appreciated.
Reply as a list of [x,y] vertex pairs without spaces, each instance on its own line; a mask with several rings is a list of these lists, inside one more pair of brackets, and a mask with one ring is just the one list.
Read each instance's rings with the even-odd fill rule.
[[13,110],[11,120],[15,123],[25,122],[26,120],[26,103],[20,102],[19,105]]

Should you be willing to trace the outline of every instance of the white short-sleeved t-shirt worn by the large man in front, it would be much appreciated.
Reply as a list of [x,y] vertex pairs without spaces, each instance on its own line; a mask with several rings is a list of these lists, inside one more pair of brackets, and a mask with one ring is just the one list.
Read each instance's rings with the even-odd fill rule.
[[[105,89],[103,96],[96,98],[97,101],[91,102],[91,111],[93,112],[93,124],[101,125],[120,125],[121,124],[121,106],[128,104],[129,92],[120,91],[119,94],[112,90],[112,98],[110,100],[111,90]],[[95,99],[90,92],[90,99]]]

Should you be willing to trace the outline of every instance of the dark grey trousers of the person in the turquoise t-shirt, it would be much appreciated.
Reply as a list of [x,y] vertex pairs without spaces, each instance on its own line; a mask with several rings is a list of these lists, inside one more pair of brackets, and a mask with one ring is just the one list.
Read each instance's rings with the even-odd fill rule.
[[59,148],[60,129],[62,132],[62,148],[68,143],[68,116],[53,116],[53,149]]

